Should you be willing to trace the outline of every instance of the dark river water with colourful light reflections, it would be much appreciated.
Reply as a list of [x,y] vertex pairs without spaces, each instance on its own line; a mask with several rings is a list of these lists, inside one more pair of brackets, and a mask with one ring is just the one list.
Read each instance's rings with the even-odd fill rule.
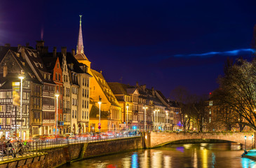
[[107,155],[72,162],[67,167],[97,168],[182,168],[182,167],[256,167],[256,162],[241,158],[243,148],[236,143],[172,144],[161,148]]

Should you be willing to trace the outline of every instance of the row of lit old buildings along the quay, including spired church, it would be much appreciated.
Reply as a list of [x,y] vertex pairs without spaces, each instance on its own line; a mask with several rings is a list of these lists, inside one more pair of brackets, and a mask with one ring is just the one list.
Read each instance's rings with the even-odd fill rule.
[[179,129],[180,109],[159,90],[107,83],[102,71],[90,68],[81,17],[76,51],[49,52],[44,41],[36,48],[6,44],[0,60],[0,136],[13,137],[20,128],[23,138],[55,134],[56,127],[59,134]]

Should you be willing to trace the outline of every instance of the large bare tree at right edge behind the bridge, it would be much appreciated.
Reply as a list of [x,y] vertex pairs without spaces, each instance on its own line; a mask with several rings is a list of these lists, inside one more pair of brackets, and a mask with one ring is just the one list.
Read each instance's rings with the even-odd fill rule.
[[[247,62],[237,59],[224,69],[219,78],[220,89],[215,92],[222,114],[226,114],[229,123],[238,123],[240,128],[248,125],[256,130],[256,61]],[[240,120],[239,120],[240,119]]]

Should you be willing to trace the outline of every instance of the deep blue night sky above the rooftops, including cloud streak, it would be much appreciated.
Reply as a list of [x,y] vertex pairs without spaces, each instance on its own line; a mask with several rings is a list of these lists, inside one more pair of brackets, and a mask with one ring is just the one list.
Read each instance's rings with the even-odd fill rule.
[[0,1],[0,45],[43,39],[76,48],[79,15],[93,69],[107,82],[208,94],[227,57],[252,55],[256,1]]

